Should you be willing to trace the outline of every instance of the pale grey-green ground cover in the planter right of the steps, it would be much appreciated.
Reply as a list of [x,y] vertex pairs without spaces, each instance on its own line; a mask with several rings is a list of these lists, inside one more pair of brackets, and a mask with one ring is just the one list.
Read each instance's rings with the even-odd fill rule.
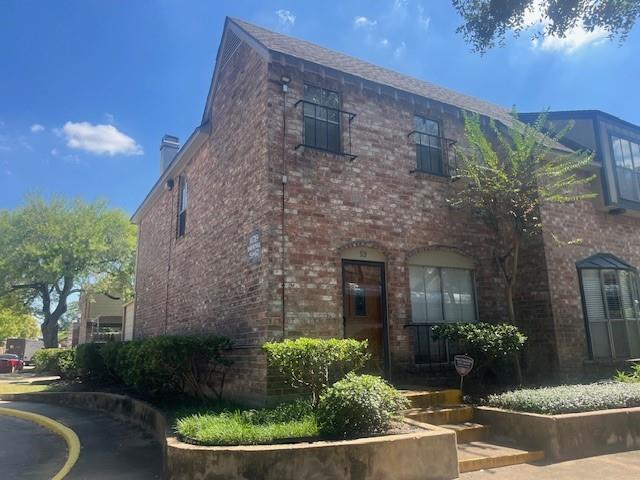
[[489,407],[551,415],[640,407],[640,383],[600,382],[513,390],[489,395],[484,403]]

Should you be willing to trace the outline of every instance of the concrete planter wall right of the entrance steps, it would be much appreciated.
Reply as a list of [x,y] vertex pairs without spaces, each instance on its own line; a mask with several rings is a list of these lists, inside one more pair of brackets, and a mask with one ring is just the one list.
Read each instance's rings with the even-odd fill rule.
[[540,415],[479,407],[475,418],[554,461],[640,449],[640,408]]

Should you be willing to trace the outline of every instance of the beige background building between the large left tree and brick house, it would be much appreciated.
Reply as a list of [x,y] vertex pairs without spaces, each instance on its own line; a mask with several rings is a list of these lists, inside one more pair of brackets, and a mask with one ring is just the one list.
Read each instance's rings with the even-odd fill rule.
[[101,293],[83,293],[79,304],[77,344],[121,340],[122,300]]

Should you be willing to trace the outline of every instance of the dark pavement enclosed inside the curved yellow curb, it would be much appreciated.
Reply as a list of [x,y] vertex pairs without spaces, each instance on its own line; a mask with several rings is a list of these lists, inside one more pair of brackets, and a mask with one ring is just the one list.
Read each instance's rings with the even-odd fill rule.
[[0,432],[2,478],[52,478],[67,460],[67,446],[62,437],[38,424],[0,415]]

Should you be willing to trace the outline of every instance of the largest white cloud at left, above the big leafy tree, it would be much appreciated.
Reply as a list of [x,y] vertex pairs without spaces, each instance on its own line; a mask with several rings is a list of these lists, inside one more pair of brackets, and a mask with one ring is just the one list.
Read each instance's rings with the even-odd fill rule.
[[[142,155],[142,147],[113,125],[67,122],[59,130],[67,146],[97,155]],[[52,152],[53,154],[53,152]]]

